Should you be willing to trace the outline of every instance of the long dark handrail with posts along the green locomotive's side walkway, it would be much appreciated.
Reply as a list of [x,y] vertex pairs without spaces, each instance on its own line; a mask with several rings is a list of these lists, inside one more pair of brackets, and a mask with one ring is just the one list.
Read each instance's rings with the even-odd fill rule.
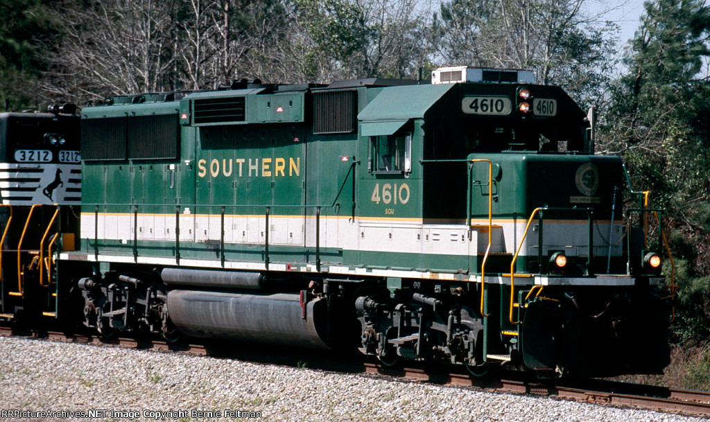
[[[138,210],[143,208],[148,208],[148,209],[167,209],[170,207],[175,207],[175,263],[176,265],[180,265],[180,209],[185,208],[185,209],[195,209],[195,216],[197,216],[197,211],[199,209],[219,209],[219,216],[220,216],[220,221],[221,221],[221,233],[219,236],[219,259],[221,262],[222,267],[224,267],[224,263],[226,261],[226,251],[225,251],[225,240],[224,240],[224,218],[225,218],[225,211],[227,209],[234,209],[234,210],[239,210],[239,209],[264,209],[264,221],[265,221],[265,231],[264,231],[264,265],[266,266],[266,270],[268,270],[269,264],[271,263],[271,255],[269,252],[269,246],[270,246],[270,241],[269,241],[269,217],[271,216],[271,213],[274,209],[302,209],[304,210],[304,218],[307,218],[305,215],[305,211],[307,209],[315,209],[315,219],[316,219],[316,233],[315,233],[315,265],[317,267],[317,270],[320,272],[320,267],[321,267],[321,260],[320,260],[320,255],[321,255],[321,250],[320,250],[320,215],[322,209],[332,209],[335,207],[339,207],[338,204],[338,199],[340,199],[343,190],[346,187],[347,182],[350,180],[352,184],[352,193],[351,193],[351,214],[352,218],[355,218],[355,209],[356,209],[356,197],[355,197],[355,181],[356,181],[356,174],[355,174],[355,166],[359,165],[359,161],[354,161],[350,165],[347,173],[345,174],[345,178],[343,182],[340,184],[340,187],[337,191],[337,194],[335,195],[334,199],[330,204],[305,204],[305,205],[255,205],[255,204],[82,204],[82,206],[93,206],[94,207],[94,257],[96,260],[99,260],[99,207],[104,207],[108,208],[120,208],[120,207],[128,207],[128,209],[131,209],[133,211],[133,245],[132,245],[132,252],[133,252],[133,260],[135,262],[138,262]],[[182,214],[184,217],[185,214]],[[212,213],[209,212],[208,216],[212,216]],[[209,218],[209,217],[208,217]],[[304,248],[307,248],[308,246],[306,245],[306,239],[304,238]]]

